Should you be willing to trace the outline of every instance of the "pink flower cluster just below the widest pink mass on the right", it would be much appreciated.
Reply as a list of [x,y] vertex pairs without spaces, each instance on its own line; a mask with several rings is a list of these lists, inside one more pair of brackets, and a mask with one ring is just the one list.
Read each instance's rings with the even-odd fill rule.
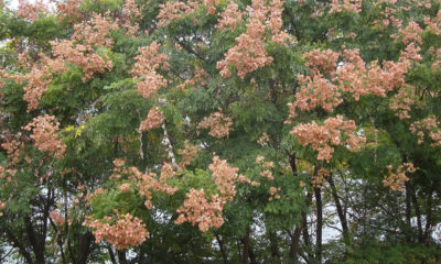
[[291,131],[301,144],[311,145],[319,151],[318,160],[330,162],[334,152],[333,146],[346,145],[352,152],[359,151],[366,142],[363,135],[358,135],[357,127],[353,120],[344,121],[342,116],[329,118],[323,125],[314,121],[299,124]]

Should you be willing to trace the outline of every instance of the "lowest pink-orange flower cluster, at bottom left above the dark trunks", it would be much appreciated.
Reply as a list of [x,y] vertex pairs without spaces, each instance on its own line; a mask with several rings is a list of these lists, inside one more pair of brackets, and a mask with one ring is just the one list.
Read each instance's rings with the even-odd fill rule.
[[146,224],[130,213],[117,219],[104,217],[103,220],[94,220],[90,216],[87,216],[83,226],[95,229],[93,232],[96,243],[106,240],[117,250],[139,245],[149,237]]

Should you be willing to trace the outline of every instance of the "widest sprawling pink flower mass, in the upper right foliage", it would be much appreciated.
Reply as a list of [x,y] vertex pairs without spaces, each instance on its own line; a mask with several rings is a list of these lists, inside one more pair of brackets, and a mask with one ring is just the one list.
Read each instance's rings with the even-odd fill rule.
[[295,101],[288,103],[290,119],[298,116],[297,109],[311,111],[321,107],[327,112],[343,102],[342,92],[351,94],[355,100],[361,96],[374,94],[386,97],[386,92],[405,84],[409,61],[384,62],[383,68],[374,62],[366,66],[358,50],[343,51],[344,64],[337,67],[340,53],[331,50],[313,50],[305,53],[310,76],[299,75],[301,85]]

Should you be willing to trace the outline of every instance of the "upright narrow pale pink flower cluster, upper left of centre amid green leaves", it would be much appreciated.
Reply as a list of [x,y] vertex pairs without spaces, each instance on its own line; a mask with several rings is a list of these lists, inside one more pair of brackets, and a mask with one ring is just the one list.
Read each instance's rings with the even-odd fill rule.
[[168,81],[157,70],[169,68],[169,57],[159,52],[160,45],[153,42],[149,46],[140,47],[140,55],[136,56],[137,61],[131,69],[135,78],[139,78],[137,84],[138,94],[144,98],[149,98],[160,88],[165,87]]

